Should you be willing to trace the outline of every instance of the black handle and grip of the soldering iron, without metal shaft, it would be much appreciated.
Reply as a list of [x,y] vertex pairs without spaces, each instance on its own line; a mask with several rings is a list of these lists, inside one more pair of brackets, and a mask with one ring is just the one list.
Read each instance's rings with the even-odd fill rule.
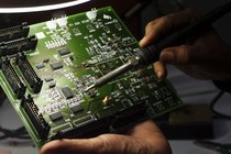
[[183,29],[182,31],[174,32],[170,35],[167,35],[165,38],[158,41],[157,43],[152,44],[145,48],[141,48],[141,51],[136,53],[136,55],[141,59],[140,64],[148,65],[157,62],[160,59],[160,54],[164,48],[179,44],[182,41],[194,34],[195,32],[206,30],[208,26],[211,25],[211,23],[213,23],[230,11],[231,2],[228,2],[210,11],[209,13],[206,13],[204,16],[195,21],[189,26]]

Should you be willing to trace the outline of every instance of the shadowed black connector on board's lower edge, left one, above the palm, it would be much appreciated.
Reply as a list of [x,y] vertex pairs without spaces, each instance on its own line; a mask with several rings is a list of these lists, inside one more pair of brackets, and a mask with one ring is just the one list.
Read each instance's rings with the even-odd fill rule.
[[94,138],[110,132],[109,125],[109,119],[103,118],[70,130],[58,131],[51,140]]

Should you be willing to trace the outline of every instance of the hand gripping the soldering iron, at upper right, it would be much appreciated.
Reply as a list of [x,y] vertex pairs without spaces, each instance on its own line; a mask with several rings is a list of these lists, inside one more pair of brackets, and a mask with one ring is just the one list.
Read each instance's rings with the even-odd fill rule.
[[[170,32],[179,31],[199,16],[197,11],[187,9],[150,22],[145,36],[140,42],[141,47]],[[166,64],[176,65],[195,78],[231,81],[231,47],[212,28],[194,34],[179,46],[163,50],[160,61],[154,64],[155,73],[161,79],[167,76]]]

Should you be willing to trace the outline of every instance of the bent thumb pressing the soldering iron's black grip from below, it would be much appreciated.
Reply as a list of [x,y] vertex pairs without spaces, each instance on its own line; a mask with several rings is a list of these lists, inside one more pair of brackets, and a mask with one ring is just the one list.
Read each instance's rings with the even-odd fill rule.
[[182,45],[162,51],[160,59],[166,64],[180,65],[191,63],[193,46]]

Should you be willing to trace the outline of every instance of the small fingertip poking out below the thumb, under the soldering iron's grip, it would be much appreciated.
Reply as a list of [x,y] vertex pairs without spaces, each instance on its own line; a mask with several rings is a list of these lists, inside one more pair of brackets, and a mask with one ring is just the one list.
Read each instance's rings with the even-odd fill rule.
[[154,72],[157,75],[158,79],[163,80],[167,76],[167,69],[164,63],[161,61],[156,62],[153,64],[154,66]]

